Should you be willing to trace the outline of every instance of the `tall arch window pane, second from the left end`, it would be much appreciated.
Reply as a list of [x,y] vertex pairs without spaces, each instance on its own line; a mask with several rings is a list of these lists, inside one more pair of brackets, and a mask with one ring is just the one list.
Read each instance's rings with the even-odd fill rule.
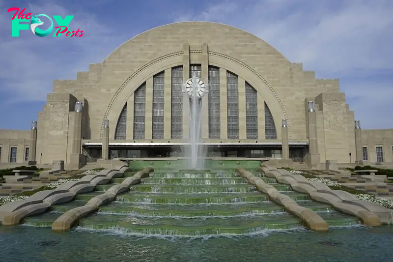
[[144,139],[146,83],[134,93],[134,140]]

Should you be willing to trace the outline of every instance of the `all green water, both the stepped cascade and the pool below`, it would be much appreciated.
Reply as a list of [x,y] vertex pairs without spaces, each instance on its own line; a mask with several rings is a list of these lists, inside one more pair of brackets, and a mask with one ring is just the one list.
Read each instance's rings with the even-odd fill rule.
[[[319,213],[329,233],[304,228],[296,216],[237,173],[152,173],[68,233],[52,223],[124,178],[57,204],[22,226],[0,227],[0,261],[287,261],[391,262],[393,227],[367,228],[276,179],[257,174],[299,205]],[[129,174],[126,174],[129,176]],[[41,227],[41,228],[38,228]]]

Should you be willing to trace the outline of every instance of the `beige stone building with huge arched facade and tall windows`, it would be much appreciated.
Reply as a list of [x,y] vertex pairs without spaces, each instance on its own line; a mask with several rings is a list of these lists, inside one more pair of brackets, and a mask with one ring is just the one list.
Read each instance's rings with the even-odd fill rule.
[[210,22],[148,30],[76,80],[55,80],[31,131],[0,130],[0,162],[178,156],[190,141],[183,84],[194,75],[208,86],[209,156],[393,162],[393,129],[355,128],[337,79],[315,79],[256,36]]

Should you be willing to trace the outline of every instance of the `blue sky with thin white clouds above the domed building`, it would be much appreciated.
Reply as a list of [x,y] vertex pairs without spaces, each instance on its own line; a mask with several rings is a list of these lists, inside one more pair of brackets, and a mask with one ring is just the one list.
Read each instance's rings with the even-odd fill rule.
[[[11,37],[10,7],[74,15],[69,28],[85,35]],[[0,129],[29,129],[54,79],[75,79],[133,36],[180,21],[257,35],[317,78],[339,78],[363,128],[393,128],[392,14],[392,0],[0,0]]]

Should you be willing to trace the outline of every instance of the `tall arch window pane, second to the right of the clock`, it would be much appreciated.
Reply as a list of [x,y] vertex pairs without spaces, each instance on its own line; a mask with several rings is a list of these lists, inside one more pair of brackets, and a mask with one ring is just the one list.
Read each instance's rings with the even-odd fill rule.
[[237,75],[226,71],[227,131],[229,139],[239,138],[239,83]]

